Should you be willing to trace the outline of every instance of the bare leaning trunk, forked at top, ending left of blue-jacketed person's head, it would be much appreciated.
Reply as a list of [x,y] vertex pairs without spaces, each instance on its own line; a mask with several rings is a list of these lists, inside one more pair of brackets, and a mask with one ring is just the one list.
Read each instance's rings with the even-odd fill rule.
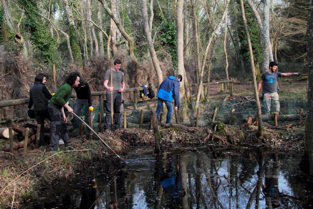
[[[151,2],[153,3],[153,0],[151,0]],[[150,10],[150,11],[151,11],[150,24],[152,25],[153,10]],[[153,67],[156,71],[157,85],[160,86],[160,84],[163,81],[163,76],[162,76],[162,71],[159,65],[159,60],[157,59],[157,56],[156,56],[156,51],[154,50],[154,47],[153,47],[153,42],[151,38],[151,25],[149,26],[149,23],[148,23],[148,12],[147,12],[146,0],[142,0],[142,17],[143,17],[143,25],[144,25],[145,34],[146,34],[146,40],[148,42],[151,60],[153,63]]]

